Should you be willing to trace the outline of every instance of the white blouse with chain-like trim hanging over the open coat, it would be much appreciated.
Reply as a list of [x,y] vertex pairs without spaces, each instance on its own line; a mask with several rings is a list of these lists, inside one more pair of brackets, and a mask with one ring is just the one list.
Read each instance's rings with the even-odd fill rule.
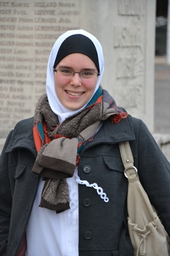
[[59,214],[39,207],[44,181],[40,181],[31,216],[28,221],[26,256],[78,256],[78,184],[96,189],[97,194],[109,202],[106,193],[97,183],[81,181],[77,168],[68,178],[70,209]]

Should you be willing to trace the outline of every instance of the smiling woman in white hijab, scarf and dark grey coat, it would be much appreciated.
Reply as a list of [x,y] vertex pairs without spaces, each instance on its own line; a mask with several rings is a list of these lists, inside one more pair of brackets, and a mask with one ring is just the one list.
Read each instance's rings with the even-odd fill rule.
[[102,74],[93,35],[73,30],[57,39],[47,95],[1,154],[1,255],[132,256],[122,141],[170,235],[169,162],[144,123],[99,86]]

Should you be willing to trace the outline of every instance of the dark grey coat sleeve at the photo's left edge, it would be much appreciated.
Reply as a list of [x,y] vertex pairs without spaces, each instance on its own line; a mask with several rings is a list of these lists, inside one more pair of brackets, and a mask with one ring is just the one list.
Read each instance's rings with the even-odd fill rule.
[[6,139],[0,156],[0,255],[5,256],[9,237],[12,196],[9,179],[8,154],[5,154],[11,134]]

